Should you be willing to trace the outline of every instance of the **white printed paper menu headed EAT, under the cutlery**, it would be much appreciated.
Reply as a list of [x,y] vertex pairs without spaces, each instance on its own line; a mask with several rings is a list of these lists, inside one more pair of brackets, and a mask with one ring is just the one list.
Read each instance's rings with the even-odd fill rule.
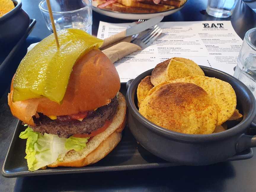
[[[97,37],[105,39],[125,30],[129,24],[100,22]],[[114,64],[121,82],[134,79],[172,57],[188,58],[198,65],[233,75],[242,39],[230,21],[161,22],[159,26],[165,36]]]

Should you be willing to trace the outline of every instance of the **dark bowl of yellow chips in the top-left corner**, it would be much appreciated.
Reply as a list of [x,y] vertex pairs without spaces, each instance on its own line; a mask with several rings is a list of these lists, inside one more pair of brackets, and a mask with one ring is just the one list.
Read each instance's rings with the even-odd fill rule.
[[17,42],[30,23],[28,14],[21,9],[21,0],[12,0],[15,7],[0,17],[0,46],[8,47]]

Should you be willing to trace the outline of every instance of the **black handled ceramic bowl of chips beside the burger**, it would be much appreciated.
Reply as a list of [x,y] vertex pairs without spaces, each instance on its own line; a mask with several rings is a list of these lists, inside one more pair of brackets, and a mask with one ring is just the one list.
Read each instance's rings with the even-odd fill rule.
[[174,132],[144,118],[137,108],[137,86],[151,75],[153,69],[127,82],[128,125],[136,140],[148,151],[167,161],[183,165],[207,165],[232,157],[246,148],[256,146],[256,136],[246,135],[256,115],[256,102],[252,92],[238,79],[222,71],[200,66],[208,77],[231,84],[236,92],[237,106],[243,120],[220,133],[192,135]]

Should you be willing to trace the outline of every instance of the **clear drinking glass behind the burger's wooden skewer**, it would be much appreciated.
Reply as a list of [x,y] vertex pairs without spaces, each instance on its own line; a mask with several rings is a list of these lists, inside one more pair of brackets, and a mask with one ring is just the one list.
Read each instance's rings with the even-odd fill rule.
[[[66,28],[76,28],[92,34],[91,0],[50,0],[50,3],[57,31]],[[39,9],[45,19],[47,28],[52,31],[46,0],[39,3]]]

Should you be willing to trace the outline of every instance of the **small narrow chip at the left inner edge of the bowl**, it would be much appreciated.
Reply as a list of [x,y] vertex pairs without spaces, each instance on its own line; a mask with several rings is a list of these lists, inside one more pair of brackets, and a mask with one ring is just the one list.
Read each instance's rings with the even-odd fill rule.
[[150,89],[152,89],[153,84],[150,81],[150,76],[146,76],[144,79],[140,81],[137,87],[137,99],[138,99],[138,107],[140,107],[140,103],[145,99],[148,95]]

